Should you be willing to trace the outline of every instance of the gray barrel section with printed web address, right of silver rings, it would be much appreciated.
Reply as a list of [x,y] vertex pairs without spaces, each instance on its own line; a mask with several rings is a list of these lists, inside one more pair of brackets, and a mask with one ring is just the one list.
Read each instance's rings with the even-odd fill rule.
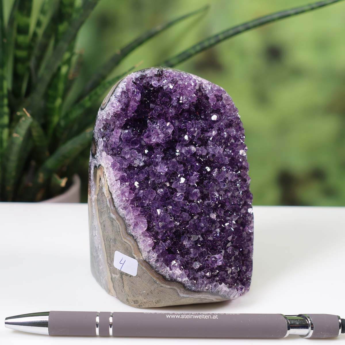
[[283,338],[280,314],[114,313],[113,335],[200,338]]

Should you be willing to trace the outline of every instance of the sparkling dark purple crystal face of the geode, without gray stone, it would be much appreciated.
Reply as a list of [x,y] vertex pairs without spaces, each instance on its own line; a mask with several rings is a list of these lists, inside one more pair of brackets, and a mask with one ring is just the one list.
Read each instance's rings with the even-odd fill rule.
[[225,90],[165,68],[122,80],[95,126],[98,163],[145,260],[225,298],[248,290],[252,275],[244,139]]

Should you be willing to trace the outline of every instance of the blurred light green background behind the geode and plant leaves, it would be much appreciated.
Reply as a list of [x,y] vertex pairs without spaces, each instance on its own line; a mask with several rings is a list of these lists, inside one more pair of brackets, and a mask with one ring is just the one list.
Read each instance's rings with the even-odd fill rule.
[[[155,66],[210,34],[306,2],[102,0],[78,37],[80,83],[140,33],[204,4],[211,5],[208,12],[151,39],[113,76],[140,61],[140,69]],[[345,205],[344,19],[340,2],[245,32],[177,66],[233,98],[246,130],[255,205]],[[88,150],[76,161],[84,185],[87,159]]]

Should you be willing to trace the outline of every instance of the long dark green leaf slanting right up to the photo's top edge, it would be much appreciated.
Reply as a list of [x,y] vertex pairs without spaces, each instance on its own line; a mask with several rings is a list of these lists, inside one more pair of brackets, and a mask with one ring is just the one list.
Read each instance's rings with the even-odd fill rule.
[[62,35],[61,40],[57,43],[52,55],[49,57],[46,63],[44,70],[42,71],[42,74],[39,76],[36,82],[36,88],[33,90],[25,103],[26,108],[31,111],[32,114],[36,114],[36,110],[40,108],[42,97],[53,74],[59,67],[70,43],[75,39],[80,27],[88,18],[98,1],[99,0],[85,0],[83,2],[80,11],[78,11],[76,16],[72,18],[67,31]]

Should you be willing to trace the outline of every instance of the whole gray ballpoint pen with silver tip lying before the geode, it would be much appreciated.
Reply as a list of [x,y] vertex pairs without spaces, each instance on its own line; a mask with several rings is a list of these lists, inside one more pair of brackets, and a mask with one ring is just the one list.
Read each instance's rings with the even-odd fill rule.
[[5,326],[30,333],[76,336],[332,338],[345,333],[345,319],[331,314],[51,311],[10,316]]

